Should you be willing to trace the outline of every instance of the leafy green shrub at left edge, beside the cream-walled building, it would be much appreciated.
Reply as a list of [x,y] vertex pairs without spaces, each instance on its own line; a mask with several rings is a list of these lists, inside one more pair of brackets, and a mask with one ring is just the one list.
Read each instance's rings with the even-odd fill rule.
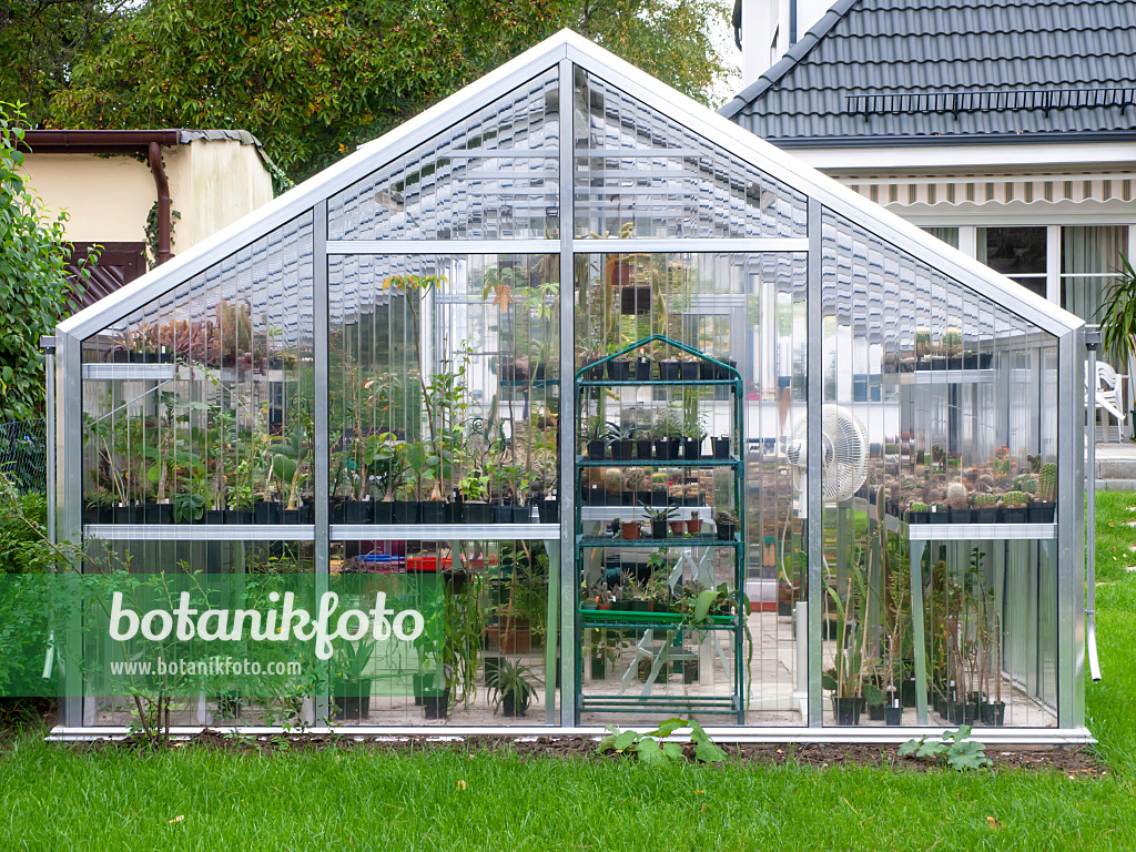
[[[0,423],[43,417],[43,352],[72,293],[66,212],[49,218],[19,167],[23,114],[0,102]],[[81,266],[81,277],[87,274]]]

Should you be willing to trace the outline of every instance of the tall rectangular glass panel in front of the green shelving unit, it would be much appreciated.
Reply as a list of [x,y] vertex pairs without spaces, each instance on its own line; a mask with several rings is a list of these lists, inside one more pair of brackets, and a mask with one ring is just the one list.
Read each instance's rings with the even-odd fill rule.
[[[586,536],[577,556],[582,721],[652,724],[692,712],[727,725],[738,720],[741,701],[745,724],[803,724],[793,698],[804,690],[793,638],[802,525],[778,438],[804,411],[804,254],[577,254],[575,274],[577,368],[662,334],[735,364],[742,377],[735,399],[728,384],[713,383],[716,368],[662,343],[640,350],[643,360],[584,374],[619,381],[626,370],[638,383],[591,387],[580,401],[579,452],[591,460],[577,484]],[[661,384],[671,373],[676,384]],[[678,384],[684,376],[688,384]],[[670,449],[676,433],[695,436],[696,459]],[[738,495],[733,467],[716,461],[715,442],[699,435],[729,437],[744,462],[741,554],[708,536],[728,533],[721,512],[736,517]],[[609,537],[636,532],[637,543],[626,546]],[[684,601],[719,583],[730,595],[745,592],[741,634],[729,618],[708,629],[688,618],[668,623],[682,620]]]

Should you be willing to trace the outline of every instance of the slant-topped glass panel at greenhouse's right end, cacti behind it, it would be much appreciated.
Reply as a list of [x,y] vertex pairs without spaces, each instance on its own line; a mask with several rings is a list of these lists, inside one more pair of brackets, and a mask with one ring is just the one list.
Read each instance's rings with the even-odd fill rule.
[[[1036,571],[1043,545],[979,540],[996,535],[999,523],[1054,520],[1056,340],[834,214],[822,227],[826,724],[893,716],[891,724],[912,725],[920,609],[933,699],[993,700],[987,598],[1003,575],[991,571],[1003,561]],[[969,525],[976,541],[909,540],[935,524]],[[975,548],[986,560],[980,570]],[[912,570],[921,571],[921,600],[912,598]],[[1024,594],[1019,582],[1006,594]],[[976,621],[980,612],[985,621]],[[1049,652],[1034,616],[1008,617],[1004,630],[1036,660]],[[1017,687],[1005,673],[1009,693]],[[1041,693],[1017,694],[1026,708]],[[954,722],[936,717],[934,702],[932,710],[933,724]],[[867,718],[857,722],[858,713]],[[1025,709],[1010,718],[1053,724]]]

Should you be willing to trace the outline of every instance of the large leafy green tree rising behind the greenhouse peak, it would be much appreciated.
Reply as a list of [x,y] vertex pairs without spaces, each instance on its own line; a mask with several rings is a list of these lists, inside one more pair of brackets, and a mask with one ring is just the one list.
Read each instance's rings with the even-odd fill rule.
[[561,27],[707,100],[724,0],[150,0],[76,61],[52,123],[241,127],[306,178]]

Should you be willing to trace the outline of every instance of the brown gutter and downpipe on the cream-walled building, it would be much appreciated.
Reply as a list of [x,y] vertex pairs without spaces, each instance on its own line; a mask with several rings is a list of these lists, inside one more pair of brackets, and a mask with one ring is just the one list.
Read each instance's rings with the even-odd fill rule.
[[18,144],[22,151],[35,153],[131,153],[150,164],[158,197],[158,265],[173,257],[170,245],[169,178],[161,164],[162,145],[185,141],[183,131],[25,131]]

